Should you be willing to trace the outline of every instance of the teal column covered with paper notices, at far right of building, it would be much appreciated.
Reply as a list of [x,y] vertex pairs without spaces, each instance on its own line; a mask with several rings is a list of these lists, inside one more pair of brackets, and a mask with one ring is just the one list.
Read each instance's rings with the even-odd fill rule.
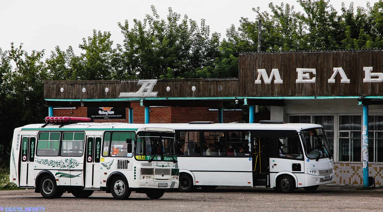
[[363,105],[363,187],[368,188],[368,105]]

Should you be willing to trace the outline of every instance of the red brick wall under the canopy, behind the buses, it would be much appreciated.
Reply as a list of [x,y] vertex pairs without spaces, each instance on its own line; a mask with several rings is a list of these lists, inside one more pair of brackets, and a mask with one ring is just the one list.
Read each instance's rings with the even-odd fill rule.
[[[145,123],[145,107],[132,102],[133,122]],[[150,123],[188,123],[190,121],[218,122],[218,110],[208,107],[150,107]],[[72,111],[72,113],[71,113]],[[224,110],[223,122],[242,121],[241,110]],[[55,108],[53,116],[87,117],[87,107],[73,109]],[[94,122],[129,122],[129,109],[126,108],[126,119],[95,119]]]

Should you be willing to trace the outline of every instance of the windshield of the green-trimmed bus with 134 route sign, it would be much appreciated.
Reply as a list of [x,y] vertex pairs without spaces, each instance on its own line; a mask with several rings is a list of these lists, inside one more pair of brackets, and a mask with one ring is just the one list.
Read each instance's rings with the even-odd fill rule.
[[162,160],[164,155],[175,155],[174,133],[140,132],[137,134],[136,155],[144,160]]

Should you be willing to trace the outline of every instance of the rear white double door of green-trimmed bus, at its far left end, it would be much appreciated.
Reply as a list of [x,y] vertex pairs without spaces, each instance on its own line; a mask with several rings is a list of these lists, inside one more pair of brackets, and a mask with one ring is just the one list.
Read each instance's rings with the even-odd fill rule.
[[34,186],[34,152],[36,150],[36,136],[21,136],[20,147],[20,186]]

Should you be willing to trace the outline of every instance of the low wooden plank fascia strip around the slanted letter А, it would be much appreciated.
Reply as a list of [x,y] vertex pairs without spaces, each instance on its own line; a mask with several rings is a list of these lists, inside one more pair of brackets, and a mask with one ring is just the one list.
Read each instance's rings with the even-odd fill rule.
[[[114,99],[120,92],[136,92],[138,80],[43,81],[44,99]],[[167,87],[170,91],[166,91]],[[196,90],[192,91],[195,86]],[[108,87],[109,91],[105,92]],[[64,92],[60,89],[63,88]],[[86,91],[82,92],[82,88]],[[235,97],[238,79],[159,79],[153,88],[157,97]]]

